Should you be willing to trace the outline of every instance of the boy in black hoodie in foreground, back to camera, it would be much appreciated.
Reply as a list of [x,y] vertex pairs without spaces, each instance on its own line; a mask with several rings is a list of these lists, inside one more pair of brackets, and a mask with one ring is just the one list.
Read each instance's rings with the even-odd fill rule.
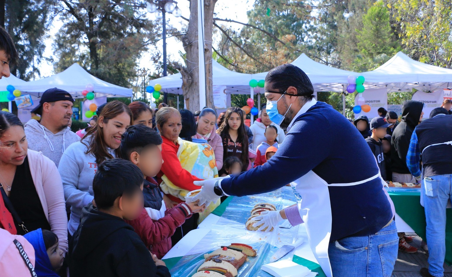
[[102,162],[93,180],[94,202],[82,210],[69,244],[71,277],[171,277],[125,219],[143,209],[143,173],[132,162]]

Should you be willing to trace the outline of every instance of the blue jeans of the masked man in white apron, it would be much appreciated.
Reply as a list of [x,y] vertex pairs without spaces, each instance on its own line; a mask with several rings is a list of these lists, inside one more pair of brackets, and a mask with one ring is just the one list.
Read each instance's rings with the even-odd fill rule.
[[330,242],[328,256],[333,277],[391,277],[398,249],[394,221],[376,234]]

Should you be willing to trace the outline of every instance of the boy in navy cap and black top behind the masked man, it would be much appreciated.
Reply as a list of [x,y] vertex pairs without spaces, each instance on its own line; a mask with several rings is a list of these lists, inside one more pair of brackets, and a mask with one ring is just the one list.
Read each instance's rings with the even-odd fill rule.
[[387,123],[386,120],[380,116],[374,117],[370,122],[370,129],[372,135],[366,138],[366,142],[372,150],[373,155],[377,159],[378,167],[380,168],[381,177],[386,180],[386,166],[383,146],[381,138],[386,135],[386,128],[392,124]]

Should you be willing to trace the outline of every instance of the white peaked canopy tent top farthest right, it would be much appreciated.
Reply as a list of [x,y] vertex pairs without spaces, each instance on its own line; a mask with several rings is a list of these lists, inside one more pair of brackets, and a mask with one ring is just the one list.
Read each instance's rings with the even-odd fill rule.
[[387,88],[387,92],[436,91],[452,85],[452,69],[428,65],[411,59],[402,52],[375,70],[363,72],[366,88]]

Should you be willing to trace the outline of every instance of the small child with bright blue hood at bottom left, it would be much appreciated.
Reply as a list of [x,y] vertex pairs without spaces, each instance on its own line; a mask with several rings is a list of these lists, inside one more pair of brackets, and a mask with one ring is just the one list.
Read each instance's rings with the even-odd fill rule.
[[56,272],[63,265],[63,250],[58,247],[58,237],[41,228],[28,232],[24,238],[33,245],[35,254],[34,270],[38,277],[58,277]]

